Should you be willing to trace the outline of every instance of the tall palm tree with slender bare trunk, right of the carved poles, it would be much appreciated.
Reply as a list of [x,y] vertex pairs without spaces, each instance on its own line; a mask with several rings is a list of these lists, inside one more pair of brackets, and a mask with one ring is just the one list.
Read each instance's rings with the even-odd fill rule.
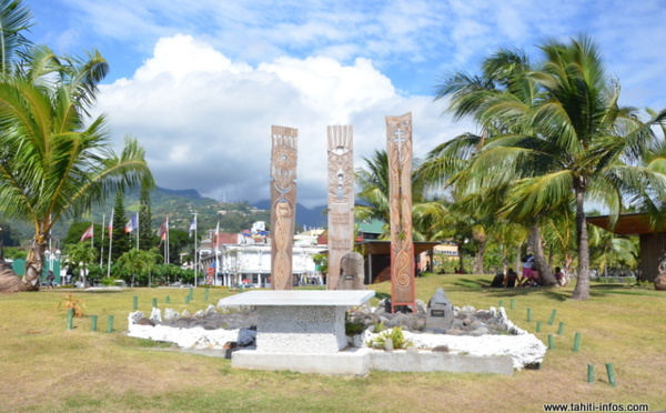
[[[544,216],[575,205],[578,280],[573,299],[589,296],[589,244],[585,201],[595,200],[617,215],[623,194],[634,200],[664,199],[663,174],[645,168],[643,159],[657,141],[650,125],[632,108],[622,108],[619,84],[603,70],[595,44],[586,37],[571,43],[549,41],[538,71],[521,73],[539,87],[529,110],[513,95],[495,94],[480,114],[485,122],[508,119],[524,125],[519,133],[493,137],[472,160],[467,171],[482,184],[514,187],[501,215],[517,220]],[[532,84],[532,83],[529,83]]]

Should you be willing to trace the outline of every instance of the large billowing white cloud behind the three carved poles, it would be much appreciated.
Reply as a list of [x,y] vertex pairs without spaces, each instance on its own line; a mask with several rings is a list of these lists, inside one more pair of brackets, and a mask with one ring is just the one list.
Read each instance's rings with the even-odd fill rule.
[[280,58],[252,68],[188,36],[160,39],[132,79],[102,88],[97,109],[114,140],[140,139],[159,185],[215,199],[268,199],[270,128],[296,128],[299,200],[309,205],[325,203],[326,125],[354,124],[357,167],[385,148],[387,114],[413,112],[416,155],[460,129],[431,98],[397,95],[367,59]]

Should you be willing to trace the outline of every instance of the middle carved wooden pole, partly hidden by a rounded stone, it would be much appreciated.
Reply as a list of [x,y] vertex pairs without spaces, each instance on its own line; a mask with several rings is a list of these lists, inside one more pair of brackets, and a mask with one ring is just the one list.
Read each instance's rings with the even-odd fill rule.
[[334,290],[342,255],[352,251],[354,239],[354,129],[329,127],[329,276]]

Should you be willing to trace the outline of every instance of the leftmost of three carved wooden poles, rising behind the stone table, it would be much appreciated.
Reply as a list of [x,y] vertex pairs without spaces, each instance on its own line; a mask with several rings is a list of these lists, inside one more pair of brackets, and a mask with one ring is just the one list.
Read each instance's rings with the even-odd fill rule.
[[292,249],[296,212],[299,130],[272,128],[271,153],[271,288],[292,289]]

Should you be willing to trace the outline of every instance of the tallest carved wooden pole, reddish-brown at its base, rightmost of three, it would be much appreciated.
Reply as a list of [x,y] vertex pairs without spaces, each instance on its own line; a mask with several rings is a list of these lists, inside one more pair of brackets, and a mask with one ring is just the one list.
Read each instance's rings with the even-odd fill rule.
[[415,308],[412,241],[412,112],[386,117],[392,305]]

